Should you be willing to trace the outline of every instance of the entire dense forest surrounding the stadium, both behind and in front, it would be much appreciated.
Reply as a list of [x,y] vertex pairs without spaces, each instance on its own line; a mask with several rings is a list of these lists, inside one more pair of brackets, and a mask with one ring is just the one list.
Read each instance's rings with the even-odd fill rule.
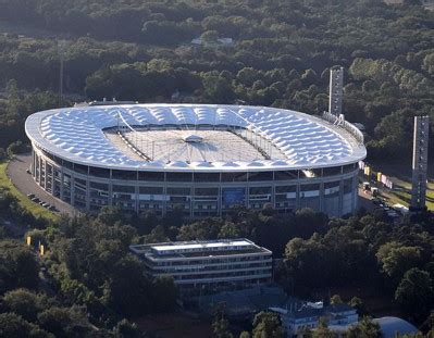
[[[0,160],[27,149],[29,114],[104,97],[321,114],[334,66],[345,68],[344,112],[365,126],[370,161],[402,161],[412,117],[429,114],[434,123],[434,13],[417,0],[0,0]],[[191,43],[197,38],[201,43]],[[32,246],[13,238],[7,222],[28,227]],[[292,295],[370,290],[430,329],[429,217],[392,226],[381,212],[330,220],[311,210],[282,216],[236,209],[224,220],[189,223],[176,210],[158,218],[104,209],[52,223],[0,190],[0,337],[147,336],[134,321],[173,311],[176,289],[170,277],[145,277],[128,245],[237,237],[273,251],[276,279]],[[364,293],[350,296],[362,298],[355,302],[360,314],[375,314]],[[231,337],[224,316],[216,318],[216,336]],[[275,317],[259,314],[251,335],[277,337],[275,326]]]

